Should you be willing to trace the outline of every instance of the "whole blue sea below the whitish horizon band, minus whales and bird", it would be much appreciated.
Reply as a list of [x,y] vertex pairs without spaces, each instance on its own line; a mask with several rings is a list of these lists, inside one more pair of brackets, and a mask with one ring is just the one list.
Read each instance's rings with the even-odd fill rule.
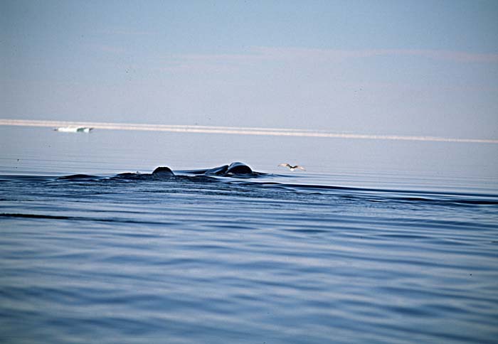
[[[0,148],[1,343],[498,343],[498,145],[0,127]],[[267,174],[184,171],[231,161]],[[114,178],[157,166],[177,176]]]

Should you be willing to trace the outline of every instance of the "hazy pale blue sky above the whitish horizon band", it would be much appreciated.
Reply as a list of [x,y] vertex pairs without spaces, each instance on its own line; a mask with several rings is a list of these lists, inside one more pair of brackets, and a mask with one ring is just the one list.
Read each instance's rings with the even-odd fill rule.
[[498,1],[0,0],[0,118],[498,138]]

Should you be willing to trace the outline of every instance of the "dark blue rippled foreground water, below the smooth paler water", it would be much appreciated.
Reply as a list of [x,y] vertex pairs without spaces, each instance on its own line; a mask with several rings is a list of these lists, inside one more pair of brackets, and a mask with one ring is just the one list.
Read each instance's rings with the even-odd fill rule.
[[3,343],[497,343],[498,195],[0,176]]

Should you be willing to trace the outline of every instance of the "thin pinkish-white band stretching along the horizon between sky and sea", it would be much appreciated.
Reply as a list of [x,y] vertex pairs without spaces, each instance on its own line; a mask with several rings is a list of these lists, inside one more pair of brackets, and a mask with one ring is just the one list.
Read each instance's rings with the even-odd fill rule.
[[385,134],[346,134],[327,130],[314,129],[285,129],[285,128],[258,128],[258,127],[216,127],[181,124],[135,124],[109,122],[68,122],[36,119],[0,119],[0,125],[17,127],[91,127],[105,130],[137,130],[137,131],[168,131],[197,134],[238,134],[260,136],[300,136],[323,137],[335,139],[373,139],[398,141],[433,141],[433,142],[460,142],[478,144],[498,144],[498,139],[457,139],[440,136],[410,136]]

